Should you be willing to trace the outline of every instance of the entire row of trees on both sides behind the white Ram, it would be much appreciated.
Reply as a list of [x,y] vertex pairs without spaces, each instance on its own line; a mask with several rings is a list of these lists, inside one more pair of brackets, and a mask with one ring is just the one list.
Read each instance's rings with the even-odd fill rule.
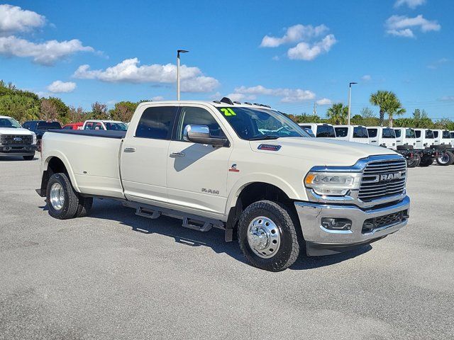
[[[0,80],[0,115],[9,115],[19,122],[26,120],[57,120],[62,124],[83,122],[87,119],[111,119],[129,122],[138,106],[138,102],[120,101],[109,108],[104,103],[93,103],[91,111],[67,106],[60,98],[40,98],[31,91],[17,89],[13,84]],[[411,118],[397,118],[406,111],[399,98],[390,91],[377,91],[370,95],[370,103],[378,106],[377,117],[370,108],[362,108],[359,115],[353,115],[351,123],[355,125],[389,125],[410,128],[441,128],[454,130],[454,122],[447,118],[436,122],[428,118],[426,111],[416,109]],[[319,115],[289,115],[297,123],[346,124],[348,107],[343,103],[333,103],[326,111],[326,118]]]

